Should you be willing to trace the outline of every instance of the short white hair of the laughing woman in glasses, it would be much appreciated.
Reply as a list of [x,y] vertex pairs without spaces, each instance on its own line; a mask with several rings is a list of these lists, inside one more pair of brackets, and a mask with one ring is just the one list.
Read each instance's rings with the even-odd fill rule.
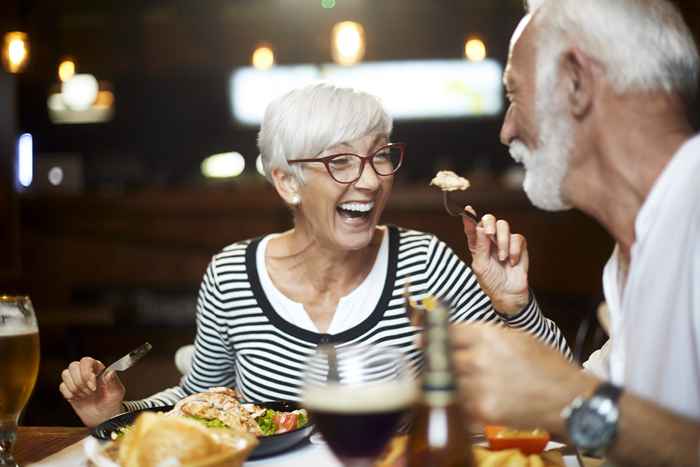
[[379,98],[327,82],[290,91],[265,110],[258,148],[265,177],[281,169],[303,182],[300,165],[290,159],[310,158],[339,143],[369,134],[391,133],[393,121]]

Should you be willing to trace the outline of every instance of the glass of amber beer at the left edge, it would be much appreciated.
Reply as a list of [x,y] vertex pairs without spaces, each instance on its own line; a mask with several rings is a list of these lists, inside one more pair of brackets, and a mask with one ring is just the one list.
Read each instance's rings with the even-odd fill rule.
[[0,295],[0,466],[16,467],[12,446],[39,372],[39,328],[29,297]]

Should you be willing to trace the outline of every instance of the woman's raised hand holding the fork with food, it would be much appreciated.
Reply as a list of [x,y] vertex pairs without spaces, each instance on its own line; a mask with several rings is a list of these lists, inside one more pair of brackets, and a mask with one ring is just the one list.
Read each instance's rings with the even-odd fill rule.
[[[470,206],[465,209],[474,213]],[[482,217],[478,225],[465,217],[462,222],[472,254],[471,268],[481,289],[496,311],[509,316],[517,314],[530,298],[525,237],[511,233],[508,222],[496,220],[491,214]]]

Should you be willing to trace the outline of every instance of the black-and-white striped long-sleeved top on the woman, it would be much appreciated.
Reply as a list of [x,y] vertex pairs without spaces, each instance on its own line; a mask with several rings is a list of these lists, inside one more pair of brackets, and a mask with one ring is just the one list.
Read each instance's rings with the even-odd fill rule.
[[244,400],[299,400],[306,360],[323,343],[398,347],[417,372],[422,354],[415,343],[418,329],[404,308],[407,283],[414,300],[432,295],[450,304],[453,323],[500,323],[529,332],[570,358],[561,331],[534,298],[517,315],[501,315],[471,269],[437,237],[395,226],[387,232],[388,268],[379,301],[367,319],[338,334],[297,327],[275,312],[256,268],[260,238],[227,246],[202,280],[190,371],[180,386],[124,405],[129,410],[170,405],[215,386],[235,387]]

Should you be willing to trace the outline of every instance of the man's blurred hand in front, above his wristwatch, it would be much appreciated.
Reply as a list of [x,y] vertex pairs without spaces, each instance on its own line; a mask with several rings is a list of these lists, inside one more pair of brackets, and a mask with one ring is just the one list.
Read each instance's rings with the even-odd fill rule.
[[596,378],[529,334],[488,324],[452,330],[464,409],[478,422],[565,435],[561,410],[589,395]]

